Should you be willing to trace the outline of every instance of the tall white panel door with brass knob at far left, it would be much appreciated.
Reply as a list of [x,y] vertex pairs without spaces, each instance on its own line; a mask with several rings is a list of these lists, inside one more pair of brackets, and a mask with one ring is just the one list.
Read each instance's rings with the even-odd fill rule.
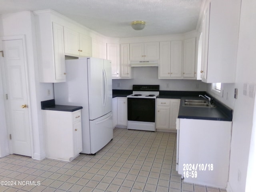
[[6,75],[6,113],[12,153],[31,156],[28,98],[23,41],[2,41]]

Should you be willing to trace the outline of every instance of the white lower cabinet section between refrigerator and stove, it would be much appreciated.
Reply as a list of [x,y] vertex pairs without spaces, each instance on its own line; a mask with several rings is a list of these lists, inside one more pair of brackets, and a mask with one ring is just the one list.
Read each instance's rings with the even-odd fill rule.
[[[113,99],[113,125],[115,127],[127,127],[127,98],[116,97]],[[116,110],[116,112],[115,112]]]

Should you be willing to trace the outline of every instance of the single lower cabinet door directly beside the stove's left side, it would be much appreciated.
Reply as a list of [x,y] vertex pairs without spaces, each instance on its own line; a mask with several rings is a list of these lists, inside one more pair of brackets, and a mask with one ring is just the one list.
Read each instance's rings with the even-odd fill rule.
[[117,124],[127,126],[127,98],[117,98]]

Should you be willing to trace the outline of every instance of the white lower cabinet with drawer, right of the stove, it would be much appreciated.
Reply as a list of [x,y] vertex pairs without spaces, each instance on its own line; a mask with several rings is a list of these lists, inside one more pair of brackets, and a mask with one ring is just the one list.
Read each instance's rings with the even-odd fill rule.
[[156,99],[156,129],[176,132],[180,99]]

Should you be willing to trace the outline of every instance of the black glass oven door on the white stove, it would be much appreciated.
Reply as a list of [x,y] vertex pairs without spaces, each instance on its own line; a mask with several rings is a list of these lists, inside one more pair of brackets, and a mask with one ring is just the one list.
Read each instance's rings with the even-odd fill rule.
[[155,98],[127,98],[128,121],[155,122]]

